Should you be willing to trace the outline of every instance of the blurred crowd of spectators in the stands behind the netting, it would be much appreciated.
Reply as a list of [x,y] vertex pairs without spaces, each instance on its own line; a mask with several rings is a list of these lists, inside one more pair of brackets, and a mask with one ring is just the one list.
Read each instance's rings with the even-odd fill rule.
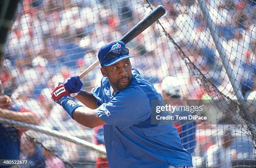
[[[74,136],[93,135],[92,130],[74,122],[51,100],[51,91],[59,81],[79,75],[97,60],[98,49],[119,40],[146,13],[146,1],[133,0],[23,0],[18,6],[5,46],[0,79],[3,90],[14,102],[36,113],[39,125]],[[202,99],[202,90],[182,57],[187,56],[220,92],[233,99],[235,91],[220,60],[197,0],[149,0],[163,5],[168,13],[160,23],[171,35],[167,38],[158,24],[153,24],[128,43],[134,68],[155,86],[166,76],[179,79],[183,99]],[[253,0],[206,0],[210,18],[218,28],[219,41],[246,99],[255,99],[256,82],[256,3]],[[217,30],[217,29],[216,29]],[[174,44],[176,43],[176,44]],[[177,46],[182,52],[177,48]],[[191,72],[191,71],[190,71]],[[102,78],[99,67],[83,79],[83,89],[90,91]],[[232,86],[232,85],[231,85]],[[254,92],[253,92],[254,91]],[[254,97],[253,97],[254,96]],[[240,97],[241,98],[241,97]],[[35,150],[39,150],[30,139]],[[27,144],[28,144],[27,143]],[[200,143],[200,142],[199,142]],[[205,142],[206,143],[206,142]],[[69,144],[72,154],[62,154],[69,161],[95,160],[92,153]],[[201,148],[201,147],[200,147]],[[200,150],[206,151],[202,148]],[[22,149],[22,148],[21,148]],[[45,158],[58,158],[44,150]],[[62,151],[63,152],[63,151]],[[63,152],[64,153],[64,152]],[[194,153],[194,149],[192,150]],[[200,152],[200,155],[206,152]],[[43,158],[43,154],[38,156]],[[86,158],[83,156],[86,155]],[[52,162],[46,163],[51,167]],[[60,163],[61,166],[62,163]],[[45,166],[45,165],[44,165]]]

